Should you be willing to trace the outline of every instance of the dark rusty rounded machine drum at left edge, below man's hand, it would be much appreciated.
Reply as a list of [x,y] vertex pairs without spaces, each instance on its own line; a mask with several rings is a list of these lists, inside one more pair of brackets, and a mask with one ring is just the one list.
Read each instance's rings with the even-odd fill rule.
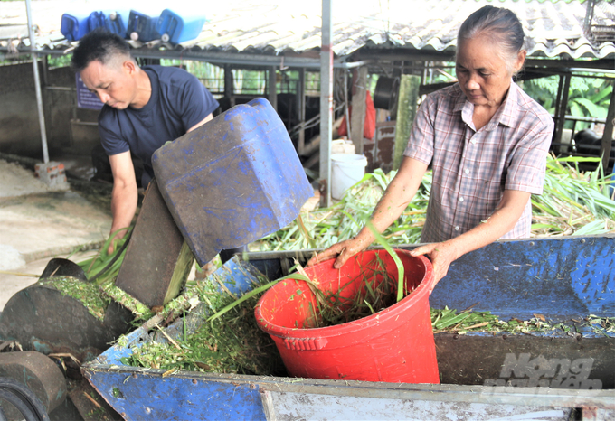
[[0,338],[19,341],[27,351],[70,352],[91,360],[128,331],[132,314],[111,302],[104,321],[77,299],[39,283],[13,295],[0,315]]

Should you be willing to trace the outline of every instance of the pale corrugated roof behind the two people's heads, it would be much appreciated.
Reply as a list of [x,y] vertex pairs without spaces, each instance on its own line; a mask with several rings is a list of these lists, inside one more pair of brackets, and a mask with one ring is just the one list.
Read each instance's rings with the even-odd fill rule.
[[[181,1],[175,0],[174,4],[178,3]],[[197,39],[176,46],[162,42],[134,43],[133,46],[154,51],[188,48],[201,52],[273,56],[294,56],[320,48],[320,1],[224,0],[212,3],[201,3],[209,22]],[[364,46],[452,52],[459,25],[469,14],[487,4],[506,7],[517,14],[525,28],[531,57],[615,58],[615,42],[592,43],[583,33],[586,4],[577,1],[334,0],[333,50],[337,57],[349,56]],[[33,23],[41,31],[37,47],[65,50],[74,45],[61,36],[61,14],[83,5],[91,10],[100,8],[98,1],[33,0]],[[24,2],[1,2],[0,19],[4,25],[26,24]],[[615,28],[615,4],[603,0],[600,7],[594,9],[592,23]],[[15,46],[18,43],[13,41]],[[0,47],[6,44],[7,41],[0,41]],[[29,41],[23,40],[20,45],[25,48]]]

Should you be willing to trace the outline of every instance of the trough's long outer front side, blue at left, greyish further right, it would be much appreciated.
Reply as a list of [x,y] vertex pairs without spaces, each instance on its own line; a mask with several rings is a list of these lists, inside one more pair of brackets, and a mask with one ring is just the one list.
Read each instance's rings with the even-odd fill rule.
[[[128,420],[569,419],[592,407],[610,419],[609,390],[410,385],[140,370],[86,364],[84,372]],[[587,414],[585,414],[587,415]]]

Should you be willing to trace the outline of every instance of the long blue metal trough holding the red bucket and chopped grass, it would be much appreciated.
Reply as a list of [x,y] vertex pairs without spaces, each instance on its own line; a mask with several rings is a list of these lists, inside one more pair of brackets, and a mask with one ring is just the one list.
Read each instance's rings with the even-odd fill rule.
[[[142,341],[113,346],[82,367],[126,419],[615,419],[615,333],[589,325],[615,314],[613,236],[497,241],[459,258],[430,296],[433,308],[540,314],[567,332],[437,333],[440,385],[292,379],[128,367]],[[413,248],[416,246],[403,246]],[[270,279],[310,250],[248,253]],[[194,316],[197,317],[198,316]],[[182,332],[182,320],[168,329]]]

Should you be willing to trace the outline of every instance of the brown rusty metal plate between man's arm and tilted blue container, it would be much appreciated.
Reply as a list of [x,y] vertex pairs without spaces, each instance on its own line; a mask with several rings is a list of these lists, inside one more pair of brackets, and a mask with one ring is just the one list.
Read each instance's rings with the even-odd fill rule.
[[149,307],[163,305],[184,244],[156,180],[149,184],[116,286]]

